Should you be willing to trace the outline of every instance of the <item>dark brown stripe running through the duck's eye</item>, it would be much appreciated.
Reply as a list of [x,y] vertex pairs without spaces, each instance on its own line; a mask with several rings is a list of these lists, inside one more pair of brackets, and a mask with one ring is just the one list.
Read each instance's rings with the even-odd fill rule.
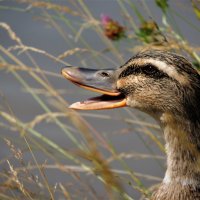
[[119,78],[124,78],[127,77],[129,75],[137,75],[137,74],[144,74],[146,76],[149,76],[151,78],[164,78],[164,77],[168,77],[167,74],[165,74],[164,72],[159,71],[156,67],[154,67],[151,64],[146,64],[143,67],[139,67],[139,66],[129,66],[127,67],[124,71],[122,71],[122,73],[119,75]]

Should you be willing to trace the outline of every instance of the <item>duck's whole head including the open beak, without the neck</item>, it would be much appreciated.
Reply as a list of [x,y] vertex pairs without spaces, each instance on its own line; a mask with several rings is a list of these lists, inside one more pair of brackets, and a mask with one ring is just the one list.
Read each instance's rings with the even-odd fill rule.
[[74,103],[70,108],[99,110],[130,106],[154,117],[165,112],[191,112],[190,105],[194,104],[189,102],[197,100],[196,83],[200,83],[198,73],[184,57],[158,50],[138,53],[118,69],[66,67],[62,75],[84,89],[102,94]]

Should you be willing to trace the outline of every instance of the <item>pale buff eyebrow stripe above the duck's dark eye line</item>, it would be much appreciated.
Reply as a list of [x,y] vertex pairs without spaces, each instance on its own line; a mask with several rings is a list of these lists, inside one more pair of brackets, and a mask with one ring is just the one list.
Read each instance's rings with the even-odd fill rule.
[[134,60],[133,63],[139,66],[142,66],[145,64],[152,64],[156,66],[160,71],[163,71],[164,73],[168,74],[169,77],[176,79],[179,83],[184,84],[184,85],[189,83],[188,77],[186,77],[185,75],[183,76],[179,74],[173,66],[167,65],[163,61],[155,60],[153,58],[148,58],[148,59],[139,58],[139,59]]

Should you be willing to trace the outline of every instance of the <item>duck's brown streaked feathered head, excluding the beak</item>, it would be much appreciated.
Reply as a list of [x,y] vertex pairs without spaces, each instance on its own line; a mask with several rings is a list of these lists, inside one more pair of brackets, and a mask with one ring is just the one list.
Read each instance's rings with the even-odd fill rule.
[[148,113],[184,112],[185,95],[200,87],[200,76],[184,57],[159,50],[135,55],[118,74],[117,88],[127,105]]

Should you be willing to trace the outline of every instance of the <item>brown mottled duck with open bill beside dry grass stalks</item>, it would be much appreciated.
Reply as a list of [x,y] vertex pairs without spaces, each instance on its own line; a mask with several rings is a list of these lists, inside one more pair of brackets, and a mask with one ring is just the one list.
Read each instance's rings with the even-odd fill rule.
[[185,57],[145,50],[116,69],[64,67],[62,75],[100,96],[77,110],[131,107],[153,117],[163,132],[166,172],[151,200],[200,200],[200,75]]

